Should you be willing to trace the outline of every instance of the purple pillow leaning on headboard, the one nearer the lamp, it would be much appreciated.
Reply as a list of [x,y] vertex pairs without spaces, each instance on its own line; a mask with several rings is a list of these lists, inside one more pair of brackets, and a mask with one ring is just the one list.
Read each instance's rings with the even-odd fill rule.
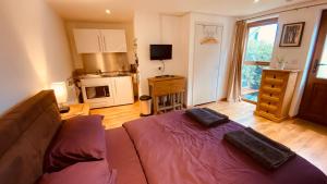
[[102,119],[102,115],[84,115],[64,121],[46,154],[45,171],[60,171],[76,162],[105,159]]

